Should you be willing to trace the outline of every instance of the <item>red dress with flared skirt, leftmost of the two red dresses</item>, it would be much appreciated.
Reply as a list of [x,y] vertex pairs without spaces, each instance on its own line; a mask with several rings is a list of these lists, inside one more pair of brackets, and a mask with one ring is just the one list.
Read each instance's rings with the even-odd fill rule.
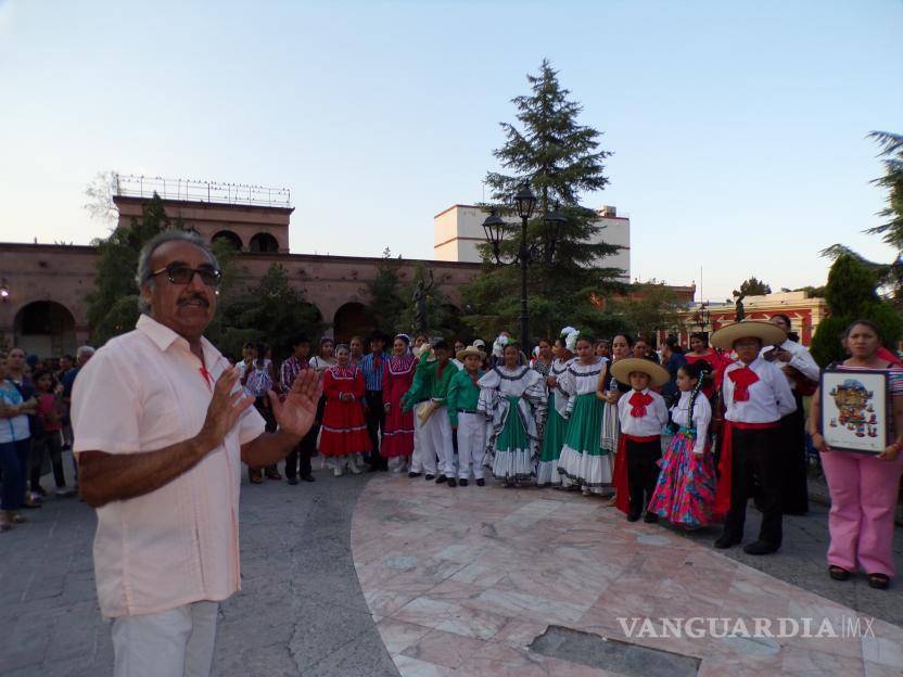
[[[340,399],[351,393],[354,399]],[[364,420],[364,374],[357,367],[330,367],[323,374],[326,409],[320,426],[320,452],[323,456],[351,456],[370,451],[370,436]]]

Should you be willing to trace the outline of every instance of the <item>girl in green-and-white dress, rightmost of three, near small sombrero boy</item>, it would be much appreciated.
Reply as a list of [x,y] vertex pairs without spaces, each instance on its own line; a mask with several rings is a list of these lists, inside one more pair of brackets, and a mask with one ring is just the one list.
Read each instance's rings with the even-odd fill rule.
[[605,406],[596,397],[608,360],[594,354],[589,336],[577,338],[576,353],[577,359],[558,381],[568,394],[568,427],[558,461],[561,486],[581,488],[584,494],[610,494],[612,458],[601,446]]

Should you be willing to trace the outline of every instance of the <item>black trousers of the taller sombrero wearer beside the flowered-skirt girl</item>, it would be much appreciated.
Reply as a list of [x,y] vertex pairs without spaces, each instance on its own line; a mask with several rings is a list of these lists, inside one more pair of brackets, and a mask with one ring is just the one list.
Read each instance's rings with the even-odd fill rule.
[[734,429],[732,434],[734,438],[730,510],[727,511],[724,522],[724,533],[737,540],[743,537],[747,501],[753,495],[753,477],[756,477],[759,480],[759,507],[762,509],[759,540],[777,548],[784,538],[784,519],[780,509],[780,429]]

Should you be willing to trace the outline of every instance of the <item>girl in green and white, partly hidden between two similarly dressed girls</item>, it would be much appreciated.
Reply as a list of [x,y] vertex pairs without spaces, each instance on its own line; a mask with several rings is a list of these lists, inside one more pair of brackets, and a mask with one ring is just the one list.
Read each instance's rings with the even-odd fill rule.
[[564,446],[564,431],[568,427],[568,421],[564,419],[568,395],[558,385],[558,380],[574,360],[573,350],[577,334],[577,330],[567,327],[561,331],[561,336],[555,342],[555,359],[549,366],[549,373],[546,374],[546,387],[549,392],[548,418],[540,443],[539,462],[536,464],[536,486],[561,486],[558,459],[561,457],[561,447]]

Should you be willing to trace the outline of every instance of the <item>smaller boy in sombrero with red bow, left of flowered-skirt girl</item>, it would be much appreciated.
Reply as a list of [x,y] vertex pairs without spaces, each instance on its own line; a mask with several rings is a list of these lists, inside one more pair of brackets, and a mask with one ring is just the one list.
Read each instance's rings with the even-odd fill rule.
[[[648,506],[659,481],[659,460],[662,458],[662,426],[667,423],[664,398],[650,391],[662,386],[671,374],[652,360],[626,358],[611,366],[611,374],[633,391],[618,400],[621,436],[618,439],[614,483],[615,506],[636,522]],[[645,522],[658,522],[654,512],[646,511]]]

